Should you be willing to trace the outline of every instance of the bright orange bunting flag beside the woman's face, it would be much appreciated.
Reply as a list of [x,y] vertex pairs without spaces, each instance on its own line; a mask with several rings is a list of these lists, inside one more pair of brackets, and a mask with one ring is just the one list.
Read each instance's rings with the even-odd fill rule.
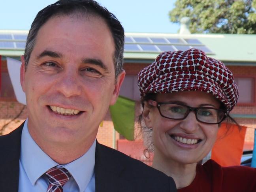
[[226,123],[221,124],[216,142],[211,151],[211,159],[221,166],[241,164],[247,127],[241,126],[241,128],[239,131],[237,125],[232,124],[227,132]]

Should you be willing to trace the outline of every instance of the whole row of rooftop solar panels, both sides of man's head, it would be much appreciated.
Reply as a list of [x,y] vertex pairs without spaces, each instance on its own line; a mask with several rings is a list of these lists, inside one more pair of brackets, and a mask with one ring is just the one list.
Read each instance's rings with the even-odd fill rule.
[[[0,34],[0,49],[24,50],[27,34]],[[213,52],[198,39],[168,37],[126,36],[124,51],[140,53],[160,53],[162,51],[186,51],[191,48],[201,49],[207,54]]]

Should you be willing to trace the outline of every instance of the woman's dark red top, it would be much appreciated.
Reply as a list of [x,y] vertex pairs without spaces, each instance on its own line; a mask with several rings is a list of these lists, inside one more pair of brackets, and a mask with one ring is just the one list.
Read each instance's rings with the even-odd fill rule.
[[194,181],[178,192],[256,192],[256,168],[222,167],[214,160],[198,164]]

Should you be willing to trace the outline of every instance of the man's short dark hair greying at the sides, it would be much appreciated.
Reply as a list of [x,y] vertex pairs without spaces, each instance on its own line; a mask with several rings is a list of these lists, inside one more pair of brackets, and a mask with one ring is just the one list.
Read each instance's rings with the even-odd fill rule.
[[57,15],[71,15],[75,13],[85,16],[98,16],[106,22],[115,42],[113,61],[115,66],[115,77],[117,78],[123,68],[124,28],[115,15],[110,13],[106,8],[100,6],[100,4],[94,0],[59,0],[39,11],[28,33],[24,53],[25,66],[28,65],[41,26]]

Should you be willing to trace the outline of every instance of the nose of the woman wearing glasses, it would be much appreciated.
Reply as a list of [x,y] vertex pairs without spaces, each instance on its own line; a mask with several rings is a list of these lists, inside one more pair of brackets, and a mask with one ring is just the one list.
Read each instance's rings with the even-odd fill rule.
[[196,132],[196,130],[199,128],[199,124],[194,111],[190,111],[188,116],[185,119],[181,120],[180,127],[187,134],[192,134]]

